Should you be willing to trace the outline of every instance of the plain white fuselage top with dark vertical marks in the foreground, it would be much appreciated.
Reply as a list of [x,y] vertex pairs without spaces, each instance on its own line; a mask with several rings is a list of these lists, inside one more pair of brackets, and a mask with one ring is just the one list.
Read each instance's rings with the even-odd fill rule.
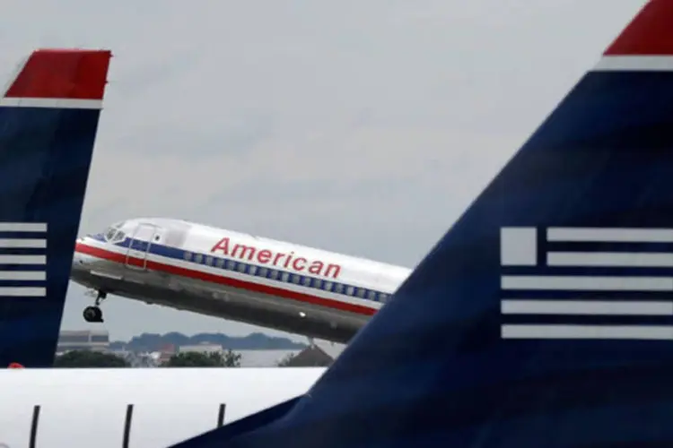
[[324,371],[0,370],[0,447],[169,446],[308,392]]

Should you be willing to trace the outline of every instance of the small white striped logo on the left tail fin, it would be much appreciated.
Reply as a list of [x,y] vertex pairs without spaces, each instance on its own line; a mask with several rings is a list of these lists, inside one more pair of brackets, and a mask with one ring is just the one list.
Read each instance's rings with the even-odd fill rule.
[[0,222],[0,297],[46,297],[47,223]]

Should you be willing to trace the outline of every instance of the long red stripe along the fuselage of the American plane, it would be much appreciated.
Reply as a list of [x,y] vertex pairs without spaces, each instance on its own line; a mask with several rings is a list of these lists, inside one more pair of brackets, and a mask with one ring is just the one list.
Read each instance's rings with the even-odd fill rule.
[[[80,254],[86,254],[101,258],[103,260],[108,260],[115,263],[127,263],[134,266],[143,267],[144,260],[135,257],[128,257],[126,254],[118,254],[117,252],[111,252],[106,249],[101,249],[100,247],[88,246],[83,243],[77,243],[74,248],[75,252]],[[302,292],[289,291],[287,289],[280,289],[273,286],[260,285],[258,283],[253,283],[246,280],[231,279],[229,277],[223,277],[222,275],[215,275],[204,271],[197,271],[187,268],[181,268],[179,266],[173,266],[171,264],[158,263],[152,260],[147,260],[145,265],[148,270],[152,271],[162,271],[170,273],[173,275],[179,275],[180,277],[187,277],[188,279],[194,280],[203,280],[210,283],[217,283],[220,285],[226,285],[233,288],[246,289],[249,291],[254,291],[262,294],[268,294],[271,296],[290,298],[293,300],[298,300],[300,302],[309,303],[312,305],[326,306],[328,308],[335,308],[342,311],[347,311],[350,313],[356,314],[365,314],[373,315],[378,310],[375,308],[370,308],[368,306],[349,304],[347,302],[342,302],[339,300],[333,300],[329,298],[311,296],[310,294],[305,294]]]

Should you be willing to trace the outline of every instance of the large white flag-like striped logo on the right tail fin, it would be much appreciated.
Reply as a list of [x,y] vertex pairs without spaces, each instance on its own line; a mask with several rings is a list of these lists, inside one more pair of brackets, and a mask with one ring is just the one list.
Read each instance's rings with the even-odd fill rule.
[[500,249],[503,339],[673,340],[673,229],[501,228]]

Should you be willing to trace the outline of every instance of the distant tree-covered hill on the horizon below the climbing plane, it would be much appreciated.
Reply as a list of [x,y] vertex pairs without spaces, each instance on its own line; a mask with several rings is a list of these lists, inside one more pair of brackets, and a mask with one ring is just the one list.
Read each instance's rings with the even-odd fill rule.
[[110,342],[109,348],[114,350],[130,351],[159,351],[167,345],[176,348],[182,345],[194,345],[201,343],[221,344],[224,349],[232,350],[255,350],[255,349],[304,349],[307,344],[295,342],[287,338],[268,336],[264,333],[250,333],[248,336],[228,336],[223,333],[198,333],[194,336],[186,336],[179,332],[166,334],[143,333],[134,336],[128,342],[115,340]]

